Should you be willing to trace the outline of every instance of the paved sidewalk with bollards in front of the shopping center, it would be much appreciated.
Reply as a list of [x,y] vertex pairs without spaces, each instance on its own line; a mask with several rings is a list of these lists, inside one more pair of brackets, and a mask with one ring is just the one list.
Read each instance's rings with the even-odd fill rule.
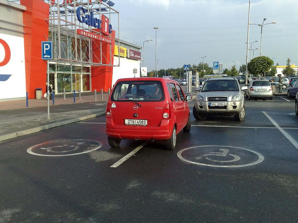
[[50,119],[48,120],[47,100],[29,99],[0,102],[0,141],[35,133],[45,129],[66,125],[105,114],[108,93],[84,95],[63,99],[55,97],[55,105],[50,100]]

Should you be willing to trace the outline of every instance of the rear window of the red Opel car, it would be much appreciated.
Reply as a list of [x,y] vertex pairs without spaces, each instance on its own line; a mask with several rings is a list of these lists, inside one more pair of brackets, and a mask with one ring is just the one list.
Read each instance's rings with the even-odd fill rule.
[[160,81],[121,81],[113,89],[112,101],[163,101],[164,89]]

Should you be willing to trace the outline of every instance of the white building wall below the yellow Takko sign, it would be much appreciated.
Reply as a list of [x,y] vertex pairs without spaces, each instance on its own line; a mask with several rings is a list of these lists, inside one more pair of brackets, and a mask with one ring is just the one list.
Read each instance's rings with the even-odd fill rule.
[[[118,57],[114,56],[114,65],[118,64]],[[137,73],[133,73],[137,69]],[[113,68],[112,86],[120,78],[140,77],[140,61],[120,57],[120,66]]]

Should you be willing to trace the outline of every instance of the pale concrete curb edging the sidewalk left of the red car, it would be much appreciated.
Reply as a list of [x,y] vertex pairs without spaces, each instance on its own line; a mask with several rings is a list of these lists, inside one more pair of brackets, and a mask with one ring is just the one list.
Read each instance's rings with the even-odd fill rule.
[[62,122],[52,123],[52,124],[49,124],[49,125],[43,125],[43,126],[40,126],[40,127],[35,127],[35,128],[30,128],[30,129],[27,129],[27,130],[23,130],[23,131],[18,131],[18,132],[5,134],[5,135],[0,136],[0,141],[4,141],[4,140],[7,140],[7,139],[13,139],[13,138],[16,138],[18,136],[28,135],[28,134],[39,132],[39,131],[46,130],[46,129],[49,129],[49,128],[58,127],[58,126],[61,126],[61,125],[67,125],[67,124],[70,124],[70,123],[80,122],[80,121],[90,119],[90,118],[95,118],[97,116],[101,116],[101,115],[104,115],[104,114],[105,114],[105,112],[99,112],[99,113],[90,114],[90,115],[86,115],[86,116],[79,117],[79,118],[65,120],[65,121],[62,121]]

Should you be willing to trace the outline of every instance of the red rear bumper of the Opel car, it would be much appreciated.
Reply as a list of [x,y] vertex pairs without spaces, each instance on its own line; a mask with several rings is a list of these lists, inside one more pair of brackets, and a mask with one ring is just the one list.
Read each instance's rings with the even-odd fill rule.
[[112,118],[107,118],[106,134],[117,139],[166,140],[172,135],[172,120],[162,120],[159,126],[115,125]]

